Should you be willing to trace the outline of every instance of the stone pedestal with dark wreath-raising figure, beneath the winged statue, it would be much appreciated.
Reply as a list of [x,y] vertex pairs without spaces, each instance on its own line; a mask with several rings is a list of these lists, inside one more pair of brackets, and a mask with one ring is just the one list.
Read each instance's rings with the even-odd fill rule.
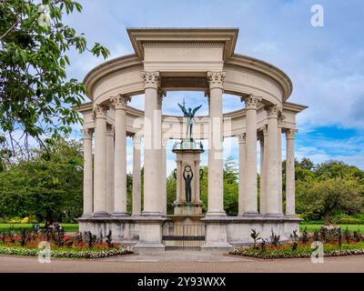
[[174,203],[175,215],[196,216],[202,214],[200,200],[200,155],[204,152],[202,146],[193,139],[186,138],[177,143],[173,150],[176,154],[177,169],[177,199]]

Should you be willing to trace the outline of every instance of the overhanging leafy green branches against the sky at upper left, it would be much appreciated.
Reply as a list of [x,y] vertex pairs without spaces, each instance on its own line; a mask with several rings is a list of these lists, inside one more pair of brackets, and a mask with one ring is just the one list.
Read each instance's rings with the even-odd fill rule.
[[96,43],[87,48],[84,35],[62,23],[63,15],[81,12],[73,0],[2,0],[0,5],[0,135],[8,135],[15,151],[23,132],[41,145],[44,135],[68,134],[81,122],[72,109],[80,105],[86,87],[67,79],[70,49],[109,55]]

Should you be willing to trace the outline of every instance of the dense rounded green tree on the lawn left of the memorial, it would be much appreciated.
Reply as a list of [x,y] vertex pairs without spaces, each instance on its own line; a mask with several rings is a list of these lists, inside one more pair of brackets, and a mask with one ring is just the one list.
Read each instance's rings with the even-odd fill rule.
[[60,137],[45,143],[47,151],[36,149],[0,173],[0,216],[35,215],[52,224],[82,214],[82,144]]

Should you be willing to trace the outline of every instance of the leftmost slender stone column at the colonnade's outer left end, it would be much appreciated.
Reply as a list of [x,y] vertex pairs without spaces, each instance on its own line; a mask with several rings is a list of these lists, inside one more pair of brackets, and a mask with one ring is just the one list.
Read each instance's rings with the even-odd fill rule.
[[85,128],[84,134],[84,213],[92,216],[94,211],[93,170],[92,170],[92,130]]

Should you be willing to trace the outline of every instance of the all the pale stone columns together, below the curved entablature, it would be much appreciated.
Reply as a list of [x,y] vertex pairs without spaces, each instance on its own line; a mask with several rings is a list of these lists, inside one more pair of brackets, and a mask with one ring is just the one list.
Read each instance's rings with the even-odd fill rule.
[[[166,216],[166,144],[162,138],[158,72],[142,72],[145,84],[144,128],[144,207],[141,212],[140,144],[133,135],[133,216]],[[223,205],[223,111],[224,72],[207,72],[209,88],[209,150],[207,217],[224,217]],[[266,124],[257,128],[257,111],[262,99],[256,95],[241,98],[246,105],[246,132],[237,135],[239,144],[239,216],[282,216],[281,135],[286,135],[286,216],[295,215],[294,135],[283,128],[279,105],[265,105]],[[84,215],[127,216],[126,212],[126,104],[130,97],[110,97],[115,108],[115,124],[106,122],[106,105],[94,107],[95,149],[92,156],[92,130],[84,130]],[[111,138],[110,138],[111,137]],[[257,185],[257,140],[260,142],[260,207]],[[111,184],[111,185],[110,185]],[[113,185],[112,185],[113,184]],[[259,209],[258,209],[259,208]]]

